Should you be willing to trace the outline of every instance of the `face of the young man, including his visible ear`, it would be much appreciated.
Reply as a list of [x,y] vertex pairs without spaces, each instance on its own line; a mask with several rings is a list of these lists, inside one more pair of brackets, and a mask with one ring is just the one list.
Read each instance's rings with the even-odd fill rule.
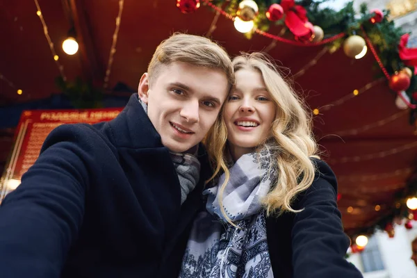
[[161,65],[149,83],[143,74],[139,96],[162,143],[171,152],[197,145],[214,124],[227,97],[229,83],[221,70],[174,62]]

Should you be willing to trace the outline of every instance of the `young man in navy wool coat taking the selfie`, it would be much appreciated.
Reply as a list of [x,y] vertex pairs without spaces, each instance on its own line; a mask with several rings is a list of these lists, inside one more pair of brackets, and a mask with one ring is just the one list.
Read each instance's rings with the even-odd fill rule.
[[52,131],[1,204],[1,277],[178,275],[233,78],[221,47],[175,34],[115,120]]

